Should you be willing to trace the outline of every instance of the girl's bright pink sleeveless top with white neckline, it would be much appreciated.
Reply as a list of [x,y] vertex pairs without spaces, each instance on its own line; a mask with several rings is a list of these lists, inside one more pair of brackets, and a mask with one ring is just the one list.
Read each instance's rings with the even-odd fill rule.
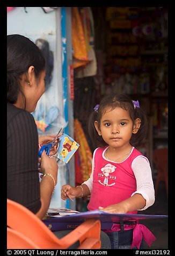
[[[94,154],[93,188],[88,210],[120,203],[136,191],[136,179],[131,166],[133,160],[142,154],[133,147],[127,159],[115,163],[105,159],[106,149],[99,147]],[[137,210],[127,214],[137,214]]]

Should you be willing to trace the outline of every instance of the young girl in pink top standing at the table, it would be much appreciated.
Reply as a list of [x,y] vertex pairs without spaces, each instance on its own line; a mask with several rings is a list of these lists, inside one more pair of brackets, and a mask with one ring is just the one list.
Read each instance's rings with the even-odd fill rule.
[[[154,204],[149,160],[135,148],[147,136],[147,117],[138,101],[123,94],[104,97],[90,115],[89,132],[98,146],[90,179],[76,188],[64,185],[62,199],[91,195],[88,210],[114,214],[137,214]],[[115,249],[141,248],[142,236],[149,245],[155,240],[147,227],[137,222],[113,224],[105,232]]]

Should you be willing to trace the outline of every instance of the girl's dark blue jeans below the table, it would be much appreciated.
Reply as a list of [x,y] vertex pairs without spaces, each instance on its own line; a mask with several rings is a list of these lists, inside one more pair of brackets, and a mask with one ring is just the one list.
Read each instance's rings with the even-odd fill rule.
[[[133,229],[123,230],[117,232],[106,232],[111,240],[111,249],[130,249],[133,241]],[[133,247],[137,249],[137,247]],[[143,249],[143,239],[140,245],[140,249]]]

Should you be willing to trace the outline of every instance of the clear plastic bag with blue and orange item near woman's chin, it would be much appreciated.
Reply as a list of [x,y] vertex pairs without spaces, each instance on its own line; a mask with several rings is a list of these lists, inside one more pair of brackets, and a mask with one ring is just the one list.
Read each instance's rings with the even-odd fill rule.
[[61,127],[67,126],[65,119],[62,117],[57,105],[53,105],[53,97],[44,93],[40,98],[37,108],[32,113],[35,123],[37,124],[38,132],[49,134]]

